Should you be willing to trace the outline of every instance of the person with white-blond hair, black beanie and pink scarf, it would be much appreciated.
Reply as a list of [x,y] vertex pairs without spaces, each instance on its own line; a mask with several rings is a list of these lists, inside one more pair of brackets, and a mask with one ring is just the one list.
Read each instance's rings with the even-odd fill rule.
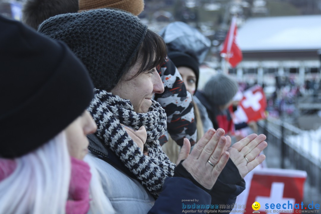
[[0,16],[0,28],[0,213],[113,213],[82,160],[97,129],[86,68],[18,21]]

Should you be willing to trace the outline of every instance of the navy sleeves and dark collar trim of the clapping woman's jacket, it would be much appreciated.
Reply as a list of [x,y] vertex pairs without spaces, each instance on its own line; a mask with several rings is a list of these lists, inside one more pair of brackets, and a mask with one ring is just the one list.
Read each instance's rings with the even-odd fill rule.
[[[91,143],[94,143],[94,141],[92,141],[92,137],[94,136],[93,134],[87,135]],[[129,177],[136,179],[112,150],[108,147],[105,147],[105,149],[107,150],[106,153],[108,156],[102,156],[99,153],[95,153],[94,150],[91,150],[91,152],[110,165],[117,167]],[[211,204],[231,205],[235,203],[236,196],[244,189],[245,182],[239,175],[239,171],[231,159],[229,159],[211,190],[205,189],[199,184],[193,176],[187,172],[182,163],[180,163],[175,167],[174,177],[168,177],[165,180],[163,190],[149,213],[174,214],[182,213],[183,210],[208,210],[208,208],[197,208],[197,205],[200,207],[201,205],[204,205],[204,207],[208,205],[208,207],[210,207]],[[194,201],[183,201],[193,199]],[[198,201],[195,201],[195,199]],[[184,208],[185,206],[186,208]],[[195,208],[193,208],[194,206]]]

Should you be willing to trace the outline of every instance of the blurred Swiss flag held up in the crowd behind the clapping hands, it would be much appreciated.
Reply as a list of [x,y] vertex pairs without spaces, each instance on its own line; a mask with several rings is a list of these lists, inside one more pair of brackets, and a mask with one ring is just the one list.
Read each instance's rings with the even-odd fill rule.
[[[265,118],[266,98],[261,86],[253,86],[243,92],[243,98],[234,112],[234,123],[258,121]],[[234,118],[233,118],[234,119]]]

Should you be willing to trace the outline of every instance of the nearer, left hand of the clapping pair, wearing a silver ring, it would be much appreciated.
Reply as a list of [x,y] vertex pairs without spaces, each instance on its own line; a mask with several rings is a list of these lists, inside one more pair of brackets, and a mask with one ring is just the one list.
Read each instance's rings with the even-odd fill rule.
[[[184,141],[189,143],[187,138]],[[229,153],[224,151],[226,143],[227,138],[224,136],[223,129],[218,129],[216,132],[214,129],[210,129],[195,144],[191,154],[182,162],[183,167],[206,189],[212,189],[229,159]],[[188,144],[185,151],[187,150]]]

